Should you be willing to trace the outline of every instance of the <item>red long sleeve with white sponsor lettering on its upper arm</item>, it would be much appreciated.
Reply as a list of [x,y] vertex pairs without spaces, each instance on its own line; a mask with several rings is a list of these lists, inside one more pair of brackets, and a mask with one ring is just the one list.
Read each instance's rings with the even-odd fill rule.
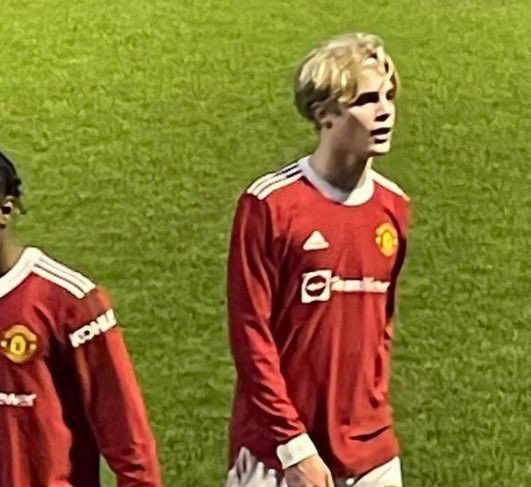
[[96,288],[72,301],[65,322],[85,414],[118,486],[162,486],[155,439],[108,296]]

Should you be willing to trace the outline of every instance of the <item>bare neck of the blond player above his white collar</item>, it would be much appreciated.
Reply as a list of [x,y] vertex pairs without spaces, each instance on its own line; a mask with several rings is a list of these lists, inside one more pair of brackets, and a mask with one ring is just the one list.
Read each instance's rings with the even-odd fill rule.
[[359,158],[319,144],[310,157],[313,170],[332,186],[352,191],[363,184],[369,158]]

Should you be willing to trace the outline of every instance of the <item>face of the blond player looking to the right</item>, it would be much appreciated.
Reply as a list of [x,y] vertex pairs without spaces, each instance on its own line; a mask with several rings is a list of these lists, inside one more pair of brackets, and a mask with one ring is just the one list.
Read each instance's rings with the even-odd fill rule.
[[389,152],[396,115],[394,91],[388,74],[363,70],[356,98],[340,102],[340,115],[331,120],[334,143],[360,158]]

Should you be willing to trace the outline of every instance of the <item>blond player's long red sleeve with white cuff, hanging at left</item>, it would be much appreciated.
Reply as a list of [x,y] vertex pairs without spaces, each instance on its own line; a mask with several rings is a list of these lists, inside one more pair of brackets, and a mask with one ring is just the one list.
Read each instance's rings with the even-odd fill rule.
[[[272,221],[267,204],[253,195],[240,198],[234,219],[228,262],[228,308],[232,353],[238,386],[269,425],[278,445],[289,443],[312,453],[306,428],[286,389],[270,317],[275,299],[278,264],[272,253]],[[262,422],[261,421],[261,422]],[[310,447],[308,448],[308,443]],[[302,457],[308,456],[303,454]],[[296,456],[298,454],[295,454]],[[279,453],[279,456],[280,453]],[[293,455],[291,455],[293,457]],[[283,463],[295,463],[299,458]]]

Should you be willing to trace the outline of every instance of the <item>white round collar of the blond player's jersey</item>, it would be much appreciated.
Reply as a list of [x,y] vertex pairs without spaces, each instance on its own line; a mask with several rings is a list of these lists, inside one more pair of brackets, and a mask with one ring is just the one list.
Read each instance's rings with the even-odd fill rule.
[[323,196],[333,201],[337,201],[345,206],[358,206],[369,201],[374,193],[374,181],[372,179],[372,159],[369,159],[363,171],[358,185],[352,191],[345,191],[333,186],[328,181],[319,176],[310,166],[310,156],[305,156],[299,160],[302,174]]

